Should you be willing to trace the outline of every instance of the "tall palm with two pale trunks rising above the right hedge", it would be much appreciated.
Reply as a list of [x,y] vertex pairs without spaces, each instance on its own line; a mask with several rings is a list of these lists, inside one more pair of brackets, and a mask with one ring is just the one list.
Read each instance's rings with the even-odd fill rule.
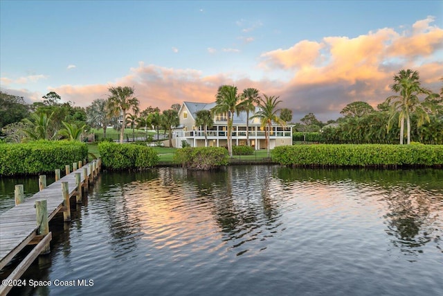
[[390,105],[390,117],[388,121],[388,130],[391,127],[392,119],[399,114],[400,126],[400,144],[403,144],[404,121],[406,120],[408,144],[410,143],[410,116],[414,112],[419,116],[417,125],[422,125],[424,121],[429,122],[429,116],[419,101],[419,94],[431,95],[428,89],[420,86],[419,73],[410,69],[401,70],[394,76],[394,84],[391,85],[392,91],[399,95],[386,98],[386,103]]

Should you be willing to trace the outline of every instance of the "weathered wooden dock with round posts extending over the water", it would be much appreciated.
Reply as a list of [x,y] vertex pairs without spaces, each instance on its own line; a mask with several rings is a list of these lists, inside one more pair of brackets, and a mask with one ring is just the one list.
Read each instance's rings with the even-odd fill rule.
[[[0,215],[0,270],[26,245],[36,246],[10,274],[6,283],[19,279],[39,254],[49,252],[51,232],[48,222],[59,211],[64,213],[65,221],[71,220],[70,199],[75,196],[75,202],[82,202],[82,188],[87,189],[98,175],[100,159],[85,165],[78,162],[78,166],[72,164],[72,173],[71,166],[66,166],[66,175],[62,178],[60,170],[56,170],[55,182],[49,186],[46,186],[46,176],[40,176],[40,191],[26,200],[23,200],[23,186],[16,186],[16,206]],[[46,209],[43,209],[45,204]],[[12,286],[2,284],[0,295],[6,295],[10,288]]]

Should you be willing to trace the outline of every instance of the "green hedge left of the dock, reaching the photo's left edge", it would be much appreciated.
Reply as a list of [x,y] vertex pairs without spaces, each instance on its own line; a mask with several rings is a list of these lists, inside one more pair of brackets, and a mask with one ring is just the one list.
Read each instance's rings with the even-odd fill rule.
[[37,175],[64,170],[66,164],[87,159],[88,147],[79,141],[35,141],[0,144],[0,175]]

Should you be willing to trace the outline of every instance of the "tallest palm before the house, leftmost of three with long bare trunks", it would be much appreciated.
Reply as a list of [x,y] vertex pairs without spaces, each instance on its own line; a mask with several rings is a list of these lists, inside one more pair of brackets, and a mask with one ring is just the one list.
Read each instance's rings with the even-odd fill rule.
[[213,107],[213,113],[228,114],[228,153],[230,157],[233,157],[233,144],[231,141],[231,134],[233,130],[233,116],[237,112],[237,102],[239,101],[239,95],[237,94],[237,87],[234,85],[221,85],[217,94],[215,95],[216,101],[215,107]]

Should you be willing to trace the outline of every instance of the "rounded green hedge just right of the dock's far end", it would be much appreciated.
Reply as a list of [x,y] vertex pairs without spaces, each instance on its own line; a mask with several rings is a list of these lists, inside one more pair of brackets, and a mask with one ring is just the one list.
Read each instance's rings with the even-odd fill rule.
[[159,162],[154,148],[136,144],[100,142],[98,152],[103,167],[115,171],[150,168]]

